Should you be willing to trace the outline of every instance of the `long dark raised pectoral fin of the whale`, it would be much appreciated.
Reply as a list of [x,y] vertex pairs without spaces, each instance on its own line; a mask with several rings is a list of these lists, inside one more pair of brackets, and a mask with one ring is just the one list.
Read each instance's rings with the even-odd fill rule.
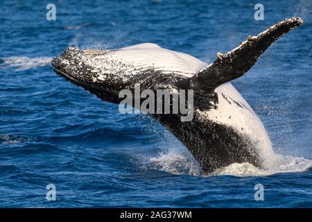
[[243,76],[270,44],[291,29],[300,26],[302,22],[302,19],[296,17],[284,19],[257,36],[249,36],[232,51],[225,54],[217,53],[216,61],[193,76],[191,80],[193,88],[210,91],[213,94],[219,85]]

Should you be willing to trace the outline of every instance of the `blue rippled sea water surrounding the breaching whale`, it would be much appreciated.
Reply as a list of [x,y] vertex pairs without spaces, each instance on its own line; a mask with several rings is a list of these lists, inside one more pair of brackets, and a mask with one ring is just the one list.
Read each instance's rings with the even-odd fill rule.
[[[46,5],[56,20],[46,20]],[[0,207],[312,207],[311,1],[0,1]],[[260,2],[261,3],[261,2]],[[153,42],[205,62],[286,17],[304,25],[234,80],[281,161],[200,171],[144,114],[119,114],[55,75],[68,46]],[[46,200],[46,185],[56,200]],[[264,200],[254,200],[254,186]]]

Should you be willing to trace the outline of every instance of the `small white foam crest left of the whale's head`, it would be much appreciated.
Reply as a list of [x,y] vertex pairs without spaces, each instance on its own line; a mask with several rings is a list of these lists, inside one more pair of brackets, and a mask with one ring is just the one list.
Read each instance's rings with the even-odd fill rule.
[[13,67],[17,71],[24,71],[26,69],[33,69],[36,67],[48,67],[51,65],[51,57],[35,57],[27,56],[10,56],[1,58],[1,68]]

